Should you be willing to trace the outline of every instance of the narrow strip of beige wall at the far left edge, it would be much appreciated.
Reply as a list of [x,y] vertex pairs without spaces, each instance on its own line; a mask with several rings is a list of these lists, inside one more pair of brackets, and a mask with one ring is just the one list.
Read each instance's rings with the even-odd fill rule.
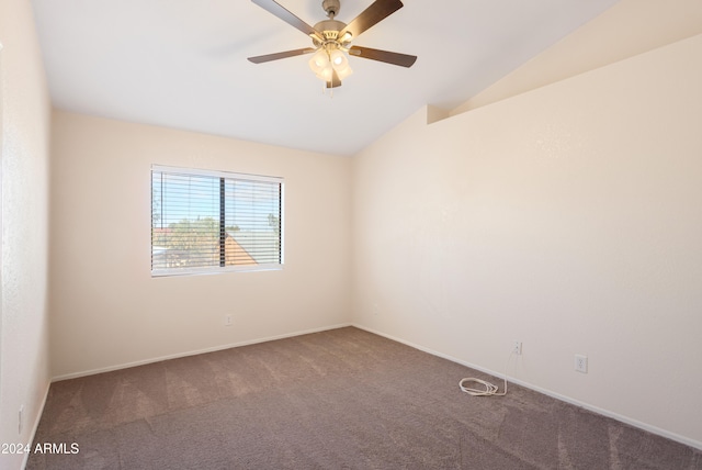
[[29,1],[0,2],[0,443],[26,444],[49,381],[49,100]]

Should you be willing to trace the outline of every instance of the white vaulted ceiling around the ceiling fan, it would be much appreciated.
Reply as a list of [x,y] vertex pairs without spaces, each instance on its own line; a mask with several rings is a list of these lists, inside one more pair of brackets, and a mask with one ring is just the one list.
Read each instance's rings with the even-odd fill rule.
[[[312,46],[248,0],[32,0],[54,105],[333,155],[353,155],[424,104],[453,109],[619,0],[407,0],[353,44],[417,55],[407,69],[351,57],[322,94]],[[321,0],[279,0],[310,25]],[[372,0],[341,0],[349,23]]]

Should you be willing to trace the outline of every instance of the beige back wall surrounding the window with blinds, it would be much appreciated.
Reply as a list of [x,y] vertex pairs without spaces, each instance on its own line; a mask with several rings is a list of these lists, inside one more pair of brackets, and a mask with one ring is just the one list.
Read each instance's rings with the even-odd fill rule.
[[[348,158],[66,112],[52,153],[55,377],[350,322]],[[285,178],[284,269],[152,279],[151,164]]]

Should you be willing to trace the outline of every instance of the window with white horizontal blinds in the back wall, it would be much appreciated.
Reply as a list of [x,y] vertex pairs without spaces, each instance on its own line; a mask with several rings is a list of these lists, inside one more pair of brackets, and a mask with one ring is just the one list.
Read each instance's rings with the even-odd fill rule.
[[280,269],[283,179],[151,167],[151,276]]

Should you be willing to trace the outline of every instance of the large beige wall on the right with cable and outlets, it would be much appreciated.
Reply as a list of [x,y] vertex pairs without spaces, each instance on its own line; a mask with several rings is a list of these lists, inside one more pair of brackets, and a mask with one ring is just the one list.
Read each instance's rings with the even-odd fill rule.
[[498,373],[521,340],[522,383],[702,448],[699,57],[421,110],[355,156],[355,323]]

